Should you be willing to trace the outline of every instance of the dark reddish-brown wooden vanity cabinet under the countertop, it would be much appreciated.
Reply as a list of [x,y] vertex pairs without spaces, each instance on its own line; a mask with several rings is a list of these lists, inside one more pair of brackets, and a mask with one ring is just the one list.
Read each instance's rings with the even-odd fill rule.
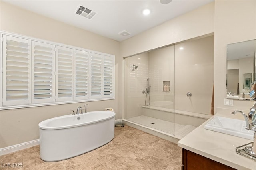
[[189,150],[182,148],[182,170],[235,170]]

